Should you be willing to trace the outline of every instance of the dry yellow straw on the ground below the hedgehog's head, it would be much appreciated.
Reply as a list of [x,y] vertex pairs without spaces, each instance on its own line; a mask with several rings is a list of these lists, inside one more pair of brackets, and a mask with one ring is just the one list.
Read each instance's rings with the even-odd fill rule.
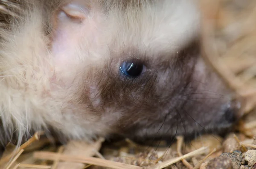
[[[36,133],[32,138],[36,138],[36,137],[38,137],[38,133]],[[180,143],[177,146],[177,149],[180,153],[181,153],[181,147],[182,147],[182,139],[183,139],[182,137],[178,137],[178,140],[180,140],[179,141]],[[32,144],[31,140],[29,140],[24,144],[29,147]],[[40,142],[40,140],[37,140],[37,142]],[[35,150],[33,151],[31,151],[30,149],[29,152],[26,152],[24,151],[24,149],[21,149],[21,148],[18,149],[18,151],[16,150],[15,152],[11,150],[9,151],[11,153],[7,153],[7,155],[4,155],[3,158],[1,159],[2,167],[4,169],[17,169],[21,167],[36,168],[36,169],[58,169],[58,168],[70,169],[69,164],[71,164],[71,166],[73,167],[72,169],[84,169],[85,167],[87,167],[87,165],[85,164],[89,164],[90,166],[92,165],[102,166],[102,167],[111,168],[111,169],[143,169],[144,168],[142,167],[143,165],[136,166],[132,164],[127,164],[128,161],[117,162],[113,159],[106,160],[102,158],[92,157],[92,156],[95,156],[96,154],[100,154],[99,149],[101,148],[100,147],[101,143],[102,143],[102,139],[99,139],[95,143],[91,143],[91,144],[84,143],[84,142],[77,142],[77,141],[74,141],[72,143],[71,141],[69,144],[65,146],[60,146],[59,149],[57,150],[55,149],[53,151],[50,150],[50,148],[47,148],[47,150],[45,151],[41,151],[41,150],[37,151],[38,147],[36,147]],[[122,144],[124,146],[123,148],[126,148],[126,149],[129,149],[130,148],[129,146],[133,146],[133,147],[134,145],[137,146],[134,143],[132,143],[132,145],[129,143],[127,145],[125,145],[124,143]],[[83,146],[82,152],[80,150],[81,146]],[[147,148],[145,147],[143,149],[145,151],[145,149]],[[65,153],[64,150],[68,150],[68,153]],[[164,161],[155,160],[153,165],[146,164],[146,166],[148,166],[149,169],[163,169],[163,168],[166,168],[167,166],[177,163],[180,160],[183,161],[185,159],[189,159],[198,155],[207,155],[207,152],[209,152],[208,147],[201,147],[185,155],[180,154],[179,157],[169,158],[168,160],[164,160]],[[146,155],[150,157],[152,155],[151,153],[152,151],[146,152]],[[23,154],[23,157],[21,156],[22,154]],[[111,154],[111,151],[109,151],[108,155],[111,155],[114,157],[113,153]],[[129,160],[129,157],[124,157],[124,158],[127,158],[127,160]],[[134,161],[137,161],[137,160],[150,161],[151,159],[150,158],[146,159],[143,157],[140,157],[140,158],[134,157],[133,160]],[[159,161],[161,161],[161,163],[159,163]],[[62,167],[58,167],[58,165],[61,163],[64,163],[65,165]],[[81,165],[81,164],[84,164],[84,165]],[[191,166],[191,168],[193,169],[194,167]]]

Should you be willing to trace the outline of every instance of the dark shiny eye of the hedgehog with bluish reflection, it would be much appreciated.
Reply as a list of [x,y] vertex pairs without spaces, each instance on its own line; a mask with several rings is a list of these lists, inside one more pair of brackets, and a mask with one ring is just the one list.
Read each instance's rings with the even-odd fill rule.
[[144,72],[145,66],[142,63],[123,62],[120,66],[120,70],[126,76],[138,77]]

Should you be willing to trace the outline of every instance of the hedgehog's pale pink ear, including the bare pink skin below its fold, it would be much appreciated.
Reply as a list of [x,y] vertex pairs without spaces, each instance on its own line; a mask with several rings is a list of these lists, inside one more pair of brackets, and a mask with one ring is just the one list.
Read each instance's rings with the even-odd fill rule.
[[[89,11],[89,6],[84,1],[86,0],[74,0],[55,15],[51,52],[56,69],[64,70],[79,63],[81,56],[84,56],[81,55],[81,50],[86,50],[95,41],[97,17],[95,12]],[[88,42],[87,45],[81,43],[84,41]]]

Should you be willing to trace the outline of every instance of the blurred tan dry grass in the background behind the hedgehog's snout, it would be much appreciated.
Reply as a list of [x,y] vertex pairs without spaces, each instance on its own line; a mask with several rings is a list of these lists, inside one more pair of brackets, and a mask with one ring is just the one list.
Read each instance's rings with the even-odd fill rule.
[[256,1],[200,2],[202,53],[250,112],[256,106]]

